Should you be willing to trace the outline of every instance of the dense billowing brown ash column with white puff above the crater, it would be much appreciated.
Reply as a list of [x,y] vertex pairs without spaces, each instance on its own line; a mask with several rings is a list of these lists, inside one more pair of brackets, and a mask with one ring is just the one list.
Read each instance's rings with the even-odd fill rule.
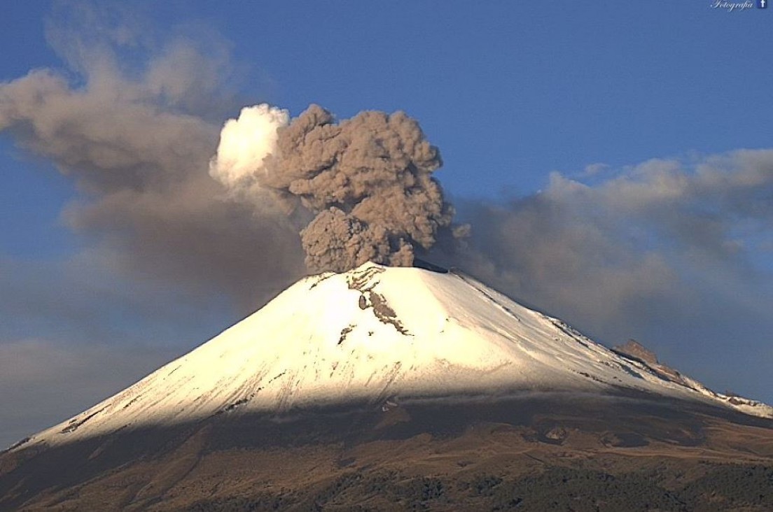
[[308,270],[320,273],[366,261],[410,266],[438,232],[461,235],[432,177],[441,165],[438,148],[403,112],[365,111],[336,123],[317,105],[290,120],[261,104],[226,122],[209,174],[257,209],[271,191],[288,213],[301,205],[314,215],[301,245]]

